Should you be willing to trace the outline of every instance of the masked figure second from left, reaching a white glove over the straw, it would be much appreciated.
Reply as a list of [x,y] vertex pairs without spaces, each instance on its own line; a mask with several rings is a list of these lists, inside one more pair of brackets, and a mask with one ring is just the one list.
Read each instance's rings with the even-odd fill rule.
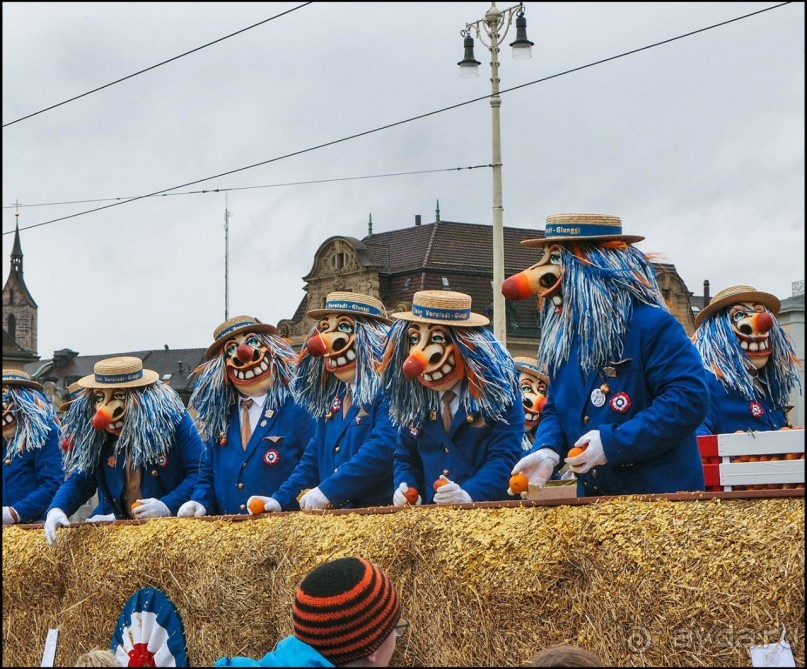
[[175,390],[143,369],[140,358],[95,363],[79,380],[86,390],[73,400],[63,425],[67,480],[45,519],[45,538],[98,491],[99,510],[116,519],[175,514],[190,498],[204,446]]

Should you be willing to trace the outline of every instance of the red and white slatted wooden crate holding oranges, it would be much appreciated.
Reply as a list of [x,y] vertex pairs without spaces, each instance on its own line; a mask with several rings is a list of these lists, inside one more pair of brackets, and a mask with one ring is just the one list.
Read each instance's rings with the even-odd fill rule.
[[698,437],[706,490],[804,487],[804,430]]

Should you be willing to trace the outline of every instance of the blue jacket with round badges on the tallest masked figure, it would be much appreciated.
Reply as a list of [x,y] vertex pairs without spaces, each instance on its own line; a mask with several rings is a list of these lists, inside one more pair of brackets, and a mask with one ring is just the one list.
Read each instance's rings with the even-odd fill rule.
[[695,430],[706,415],[706,370],[681,324],[634,304],[622,360],[583,378],[578,351],[575,341],[552,377],[533,451],[552,448],[563,462],[575,441],[599,430],[608,462],[577,475],[581,497],[703,490]]

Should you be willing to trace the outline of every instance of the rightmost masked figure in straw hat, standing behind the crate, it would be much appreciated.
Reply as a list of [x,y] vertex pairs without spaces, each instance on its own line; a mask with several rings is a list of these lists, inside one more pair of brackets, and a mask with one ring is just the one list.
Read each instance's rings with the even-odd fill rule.
[[751,286],[720,291],[695,318],[692,341],[708,371],[709,411],[698,434],[792,427],[788,398],[801,392],[793,342],[776,320],[781,303]]

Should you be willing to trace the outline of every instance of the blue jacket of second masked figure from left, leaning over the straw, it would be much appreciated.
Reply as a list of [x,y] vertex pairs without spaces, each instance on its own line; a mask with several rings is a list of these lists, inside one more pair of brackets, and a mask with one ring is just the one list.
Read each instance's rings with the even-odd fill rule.
[[[123,508],[121,494],[126,474],[125,458],[115,457],[115,439],[107,438],[101,457],[91,472],[74,472],[59,488],[50,509],[61,509],[73,515],[98,490],[96,512],[114,513],[115,518],[130,518]],[[174,443],[160,462],[140,467],[140,491],[143,499],[156,497],[176,515],[179,507],[191,498],[204,459],[204,445],[187,411],[174,429]],[[131,503],[134,500],[129,500]]]

